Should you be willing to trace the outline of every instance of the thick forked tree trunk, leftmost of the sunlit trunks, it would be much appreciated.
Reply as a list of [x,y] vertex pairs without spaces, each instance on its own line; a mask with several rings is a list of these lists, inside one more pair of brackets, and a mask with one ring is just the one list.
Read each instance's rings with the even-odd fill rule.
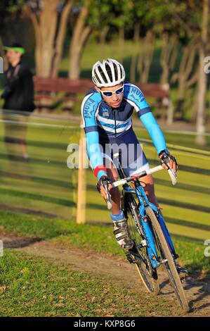
[[67,2],[58,20],[60,0],[42,0],[39,13],[29,10],[29,18],[34,26],[36,39],[35,62],[37,75],[55,77],[63,51],[67,18],[72,4]]

